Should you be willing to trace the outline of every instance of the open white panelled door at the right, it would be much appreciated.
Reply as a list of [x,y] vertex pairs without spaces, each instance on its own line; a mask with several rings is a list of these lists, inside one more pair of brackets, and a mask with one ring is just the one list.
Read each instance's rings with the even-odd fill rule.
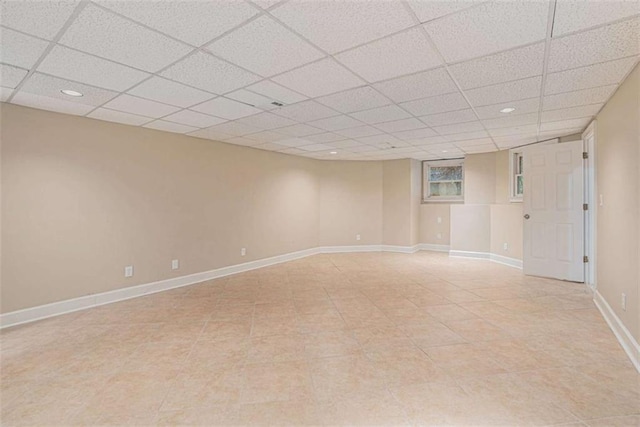
[[523,152],[524,273],[584,281],[582,141]]

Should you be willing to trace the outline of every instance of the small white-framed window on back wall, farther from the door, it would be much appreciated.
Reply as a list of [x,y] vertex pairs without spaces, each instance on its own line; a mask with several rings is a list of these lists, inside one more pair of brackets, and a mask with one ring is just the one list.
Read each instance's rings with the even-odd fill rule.
[[464,159],[422,163],[423,202],[464,200]]

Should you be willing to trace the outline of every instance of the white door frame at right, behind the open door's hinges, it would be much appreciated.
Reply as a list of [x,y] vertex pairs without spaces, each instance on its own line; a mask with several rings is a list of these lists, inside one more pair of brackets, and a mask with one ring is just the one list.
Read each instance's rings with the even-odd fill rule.
[[593,120],[582,133],[583,150],[587,153],[584,159],[584,203],[588,209],[584,211],[584,254],[589,262],[584,264],[584,283],[595,291],[597,287],[597,217],[598,217],[598,181],[596,179],[596,132],[597,123]]

